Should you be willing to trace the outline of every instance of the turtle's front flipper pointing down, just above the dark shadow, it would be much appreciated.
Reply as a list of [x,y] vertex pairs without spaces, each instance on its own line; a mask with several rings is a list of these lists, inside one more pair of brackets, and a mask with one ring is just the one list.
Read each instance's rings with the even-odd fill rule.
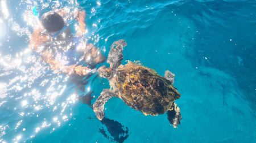
[[101,95],[93,104],[93,111],[96,113],[96,116],[99,120],[104,118],[104,105],[110,98],[114,96],[114,93],[110,89],[104,89],[101,92]]

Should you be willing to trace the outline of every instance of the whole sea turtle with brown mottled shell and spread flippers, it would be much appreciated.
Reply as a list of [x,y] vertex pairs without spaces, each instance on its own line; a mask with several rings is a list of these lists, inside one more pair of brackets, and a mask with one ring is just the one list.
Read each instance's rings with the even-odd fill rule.
[[104,118],[105,103],[110,98],[117,97],[144,115],[155,116],[167,111],[168,120],[176,128],[180,124],[181,114],[174,103],[180,98],[180,93],[173,86],[174,74],[167,70],[163,77],[151,68],[131,61],[122,65],[122,52],[126,45],[123,40],[115,41],[107,60],[110,67],[102,66],[97,70],[110,83],[110,89],[104,89],[93,104],[97,118]]

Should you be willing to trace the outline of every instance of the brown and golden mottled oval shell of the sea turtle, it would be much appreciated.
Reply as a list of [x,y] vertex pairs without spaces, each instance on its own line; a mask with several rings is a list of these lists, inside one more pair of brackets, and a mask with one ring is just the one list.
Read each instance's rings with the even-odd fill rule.
[[164,114],[180,98],[171,81],[150,68],[130,61],[117,68],[110,86],[126,105],[144,115]]

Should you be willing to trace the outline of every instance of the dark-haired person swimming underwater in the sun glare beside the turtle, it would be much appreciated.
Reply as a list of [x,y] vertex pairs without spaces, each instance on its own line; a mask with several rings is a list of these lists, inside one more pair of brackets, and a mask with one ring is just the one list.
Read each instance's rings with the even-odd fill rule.
[[[71,33],[70,23],[78,22],[76,34]],[[30,48],[42,55],[52,70],[85,76],[106,58],[92,44],[86,45],[81,36],[85,33],[85,11],[73,12],[64,9],[49,11],[42,15],[40,24],[34,29]],[[86,63],[86,67],[77,66]]]

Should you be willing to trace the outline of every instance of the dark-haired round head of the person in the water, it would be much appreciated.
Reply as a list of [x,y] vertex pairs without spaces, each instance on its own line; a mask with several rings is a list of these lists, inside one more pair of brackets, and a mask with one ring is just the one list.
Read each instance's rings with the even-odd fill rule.
[[48,32],[57,32],[64,27],[64,20],[57,12],[46,12],[41,18],[43,27]]

